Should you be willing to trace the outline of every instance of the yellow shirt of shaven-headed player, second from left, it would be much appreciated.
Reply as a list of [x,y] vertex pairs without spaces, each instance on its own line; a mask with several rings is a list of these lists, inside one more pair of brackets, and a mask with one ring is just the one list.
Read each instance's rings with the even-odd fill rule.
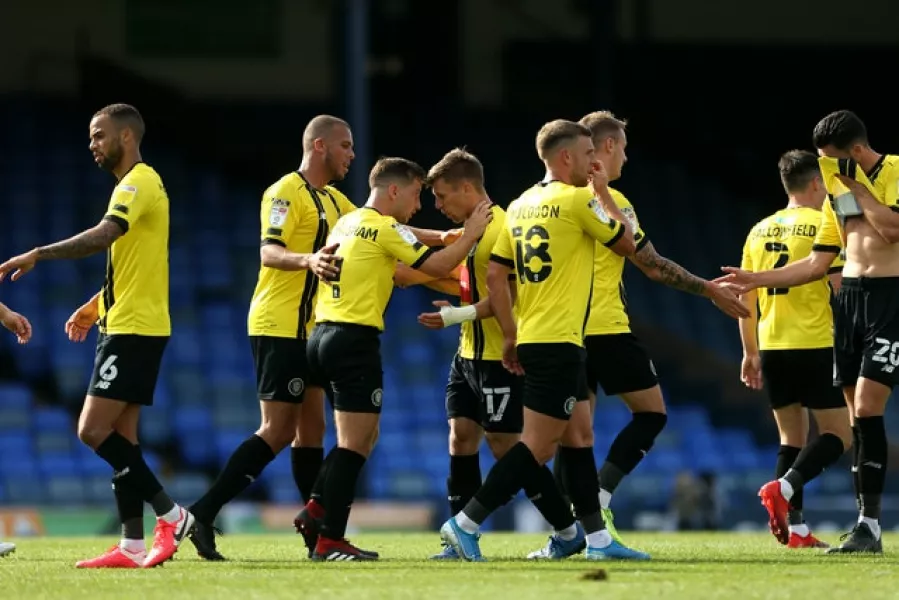
[[[299,173],[288,173],[262,195],[262,245],[297,254],[320,250],[337,220],[356,206],[336,188],[317,189]],[[318,278],[309,271],[260,266],[247,331],[251,336],[306,339],[315,323]]]

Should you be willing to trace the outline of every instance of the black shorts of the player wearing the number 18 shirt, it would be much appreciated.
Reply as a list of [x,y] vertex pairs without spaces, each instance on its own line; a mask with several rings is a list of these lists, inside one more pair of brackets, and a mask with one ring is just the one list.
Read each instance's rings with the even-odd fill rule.
[[534,412],[567,421],[575,403],[587,398],[583,347],[520,344],[518,360],[524,369],[522,404]]

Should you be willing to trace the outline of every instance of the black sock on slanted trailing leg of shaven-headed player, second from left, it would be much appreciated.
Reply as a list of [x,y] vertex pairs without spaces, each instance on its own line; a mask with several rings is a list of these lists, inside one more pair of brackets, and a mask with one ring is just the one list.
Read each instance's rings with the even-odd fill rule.
[[190,507],[190,512],[201,523],[211,525],[222,507],[247,489],[274,459],[271,446],[258,435],[251,435],[237,447],[215,483]]

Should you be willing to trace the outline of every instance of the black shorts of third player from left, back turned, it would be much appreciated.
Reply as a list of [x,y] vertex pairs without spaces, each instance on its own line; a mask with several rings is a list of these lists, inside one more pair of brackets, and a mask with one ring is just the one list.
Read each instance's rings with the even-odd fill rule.
[[381,332],[367,325],[319,323],[306,345],[309,381],[331,389],[334,410],[380,413]]

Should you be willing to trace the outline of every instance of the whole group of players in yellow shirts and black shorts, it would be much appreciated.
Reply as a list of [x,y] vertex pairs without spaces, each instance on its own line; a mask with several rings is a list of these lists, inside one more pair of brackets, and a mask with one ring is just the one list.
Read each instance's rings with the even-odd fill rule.
[[[355,159],[352,129],[337,117],[313,118],[298,169],[262,193],[259,209],[247,316],[259,427],[190,505],[169,496],[138,439],[172,334],[169,270],[179,268],[168,260],[164,174],[143,161],[144,134],[133,106],[94,114],[90,151],[115,178],[105,215],[0,264],[0,282],[15,285],[6,281],[39,262],[106,253],[101,289],[59,326],[73,343],[99,330],[78,437],[110,466],[121,539],[77,567],[154,567],[186,540],[200,557],[226,560],[216,543],[219,513],[288,448],[303,505],[292,525],[308,557],[378,560],[377,548],[354,545],[346,531],[382,407],[408,400],[384,388],[383,364],[397,359],[382,356],[381,334],[394,287],[412,285],[458,298],[408,315],[429,329],[460,329],[457,352],[446,357],[451,517],[435,532],[430,558],[487,560],[481,525],[524,490],[552,530],[528,559],[649,560],[647,549],[622,538],[612,512],[617,488],[667,423],[655,366],[623,299],[628,262],[660,285],[710,300],[739,328],[741,380],[767,393],[780,437],[773,478],[759,490],[759,514],[777,541],[828,554],[883,552],[883,415],[899,382],[899,157],[875,151],[854,113],[821,119],[811,132],[815,152],[781,156],[784,208],[747,232],[739,266],[709,278],[661,254],[641,227],[640,199],[632,204],[612,187],[628,137],[627,122],[611,112],[544,124],[535,151],[545,176],[511,202],[494,202],[489,171],[463,148],[428,168],[381,158],[368,198],[351,201],[334,184]],[[458,228],[411,226],[423,201]],[[27,343],[27,315],[13,309],[28,307],[0,304],[0,323]],[[593,451],[599,387],[631,413],[601,464]],[[326,410],[337,434],[327,449]],[[811,440],[807,415],[818,431]],[[496,459],[488,473],[482,442]],[[804,520],[803,488],[847,452],[859,517],[831,547]],[[157,523],[149,547],[145,504]],[[14,550],[0,542],[0,556]]]

